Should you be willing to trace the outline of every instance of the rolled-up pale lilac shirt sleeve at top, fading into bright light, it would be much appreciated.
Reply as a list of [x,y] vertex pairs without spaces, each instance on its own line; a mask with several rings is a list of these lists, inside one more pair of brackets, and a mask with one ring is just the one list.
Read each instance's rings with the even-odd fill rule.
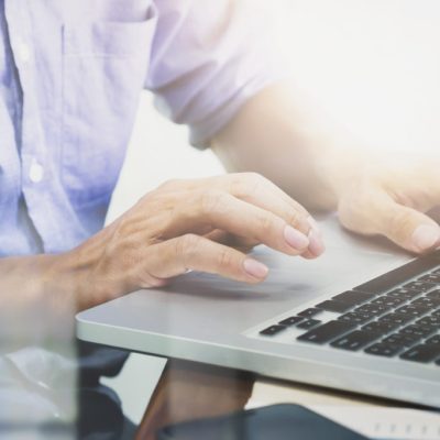
[[156,0],[157,30],[146,88],[204,148],[258,90],[280,79],[257,0]]

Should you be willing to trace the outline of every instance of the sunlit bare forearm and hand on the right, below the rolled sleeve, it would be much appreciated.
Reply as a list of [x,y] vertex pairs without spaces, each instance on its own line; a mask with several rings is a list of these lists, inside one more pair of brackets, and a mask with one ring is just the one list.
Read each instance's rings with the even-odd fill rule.
[[254,170],[311,209],[338,210],[343,226],[382,234],[416,253],[440,244],[425,212],[440,202],[438,160],[373,156],[292,85],[271,86],[212,139],[229,170]]

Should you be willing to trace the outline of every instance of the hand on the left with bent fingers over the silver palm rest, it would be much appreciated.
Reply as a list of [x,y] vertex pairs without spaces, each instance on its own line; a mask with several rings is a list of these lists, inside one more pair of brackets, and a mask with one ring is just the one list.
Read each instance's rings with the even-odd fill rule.
[[287,255],[323,252],[299,204],[264,177],[233,174],[168,182],[66,257],[79,267],[84,308],[188,270],[258,283],[267,267],[241,250],[260,243]]

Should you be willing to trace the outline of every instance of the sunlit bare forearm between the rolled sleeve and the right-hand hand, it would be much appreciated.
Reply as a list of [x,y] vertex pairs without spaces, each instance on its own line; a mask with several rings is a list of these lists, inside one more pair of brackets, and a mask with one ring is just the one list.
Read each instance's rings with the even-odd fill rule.
[[228,170],[257,172],[310,209],[332,210],[364,165],[359,142],[289,84],[264,89],[211,141]]

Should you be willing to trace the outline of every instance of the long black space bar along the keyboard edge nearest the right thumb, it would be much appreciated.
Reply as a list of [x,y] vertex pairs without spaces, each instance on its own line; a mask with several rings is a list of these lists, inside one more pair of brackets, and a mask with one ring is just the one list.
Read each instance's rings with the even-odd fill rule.
[[397,267],[384,275],[378,276],[361,286],[355,287],[355,290],[369,292],[372,294],[382,294],[386,290],[392,289],[400,283],[405,283],[406,279],[410,279],[420,273],[437,268],[439,265],[440,253],[433,252],[429,255],[421,256],[417,260]]

